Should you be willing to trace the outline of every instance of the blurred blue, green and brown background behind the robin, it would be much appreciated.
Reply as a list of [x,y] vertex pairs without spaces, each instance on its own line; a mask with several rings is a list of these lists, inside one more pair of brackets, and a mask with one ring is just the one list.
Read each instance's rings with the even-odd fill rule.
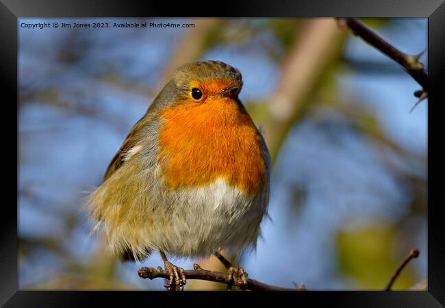
[[[188,28],[26,29],[20,23],[193,23]],[[363,19],[405,53],[427,49],[427,18]],[[134,123],[184,63],[239,68],[240,99],[273,159],[269,214],[249,277],[310,290],[394,290],[427,277],[427,103],[403,68],[333,18],[23,18],[19,33],[21,290],[164,290],[120,263],[81,212]],[[427,65],[426,54],[420,61]],[[222,270],[216,258],[175,259]],[[225,285],[188,281],[186,290]]]

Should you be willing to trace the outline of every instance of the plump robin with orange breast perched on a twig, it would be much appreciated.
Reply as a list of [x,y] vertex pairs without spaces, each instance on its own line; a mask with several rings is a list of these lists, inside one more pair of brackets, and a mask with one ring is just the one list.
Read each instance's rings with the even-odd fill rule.
[[[238,69],[183,65],[133,126],[86,207],[110,251],[140,261],[159,251],[166,287],[186,284],[178,257],[254,249],[269,199],[270,157],[238,94]],[[242,268],[229,280],[247,283]]]

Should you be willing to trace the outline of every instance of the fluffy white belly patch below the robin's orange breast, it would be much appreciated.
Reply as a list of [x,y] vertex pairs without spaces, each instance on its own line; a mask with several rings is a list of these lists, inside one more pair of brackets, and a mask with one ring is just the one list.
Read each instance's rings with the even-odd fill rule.
[[264,197],[248,196],[224,179],[182,190],[178,196],[171,232],[164,234],[168,240],[160,235],[159,244],[168,243],[164,247],[168,253],[204,256],[224,248],[238,253],[246,245],[255,246],[266,211]]

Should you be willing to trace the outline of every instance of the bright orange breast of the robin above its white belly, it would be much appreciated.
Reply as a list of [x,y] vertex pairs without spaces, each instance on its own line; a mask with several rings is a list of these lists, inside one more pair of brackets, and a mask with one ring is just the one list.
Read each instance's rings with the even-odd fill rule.
[[207,97],[161,110],[160,156],[164,184],[173,189],[223,178],[255,196],[266,185],[266,162],[253,121],[229,97]]

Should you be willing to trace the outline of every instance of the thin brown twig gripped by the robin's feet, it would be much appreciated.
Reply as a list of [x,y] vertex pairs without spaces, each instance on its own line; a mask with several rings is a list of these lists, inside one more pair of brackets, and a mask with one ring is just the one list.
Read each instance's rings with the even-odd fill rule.
[[[214,281],[218,283],[227,283],[227,273],[225,272],[212,272],[210,270],[203,270],[198,264],[194,264],[193,270],[186,270],[187,280],[199,279],[206,281]],[[138,270],[139,277],[155,279],[155,278],[168,278],[170,275],[168,272],[164,271],[162,268],[140,268]],[[244,287],[244,283],[238,280],[234,283],[238,287]],[[275,285],[267,285],[266,283],[261,283],[254,279],[247,279],[246,290],[257,290],[257,291],[303,291],[306,290],[304,285],[291,287],[276,287]]]

